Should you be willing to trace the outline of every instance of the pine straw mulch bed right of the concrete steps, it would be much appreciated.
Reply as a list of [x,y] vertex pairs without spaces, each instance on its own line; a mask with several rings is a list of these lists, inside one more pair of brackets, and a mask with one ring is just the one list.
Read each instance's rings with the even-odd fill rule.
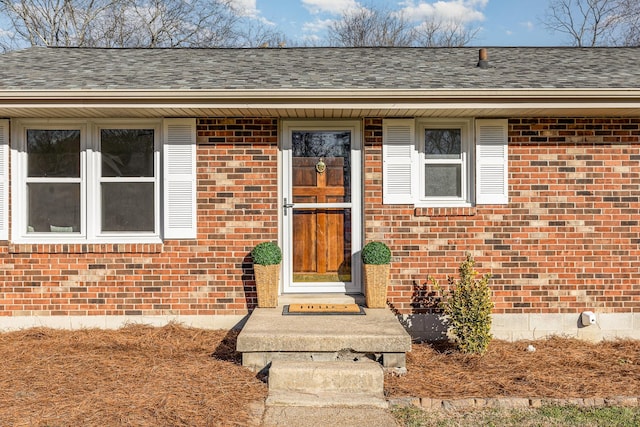
[[[526,351],[529,344],[534,352]],[[640,397],[640,341],[493,340],[483,356],[447,344],[414,344],[407,370],[387,375],[390,397]]]

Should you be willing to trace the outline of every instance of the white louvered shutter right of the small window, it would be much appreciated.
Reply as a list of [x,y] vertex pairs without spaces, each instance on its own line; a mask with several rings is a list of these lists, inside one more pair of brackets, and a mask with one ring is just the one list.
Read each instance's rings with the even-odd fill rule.
[[509,147],[506,119],[476,121],[476,203],[509,203]]

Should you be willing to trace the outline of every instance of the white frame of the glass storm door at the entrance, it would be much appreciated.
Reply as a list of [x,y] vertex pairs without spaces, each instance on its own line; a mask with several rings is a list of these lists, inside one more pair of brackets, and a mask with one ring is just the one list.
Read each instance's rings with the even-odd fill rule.
[[[362,293],[360,250],[362,248],[362,125],[357,120],[285,120],[281,127],[282,168],[280,200],[282,239],[282,283],[283,293]],[[293,282],[293,209],[284,206],[284,199],[292,198],[291,133],[307,131],[349,131],[351,132],[351,201],[349,203],[322,204],[324,207],[345,207],[351,209],[351,282]],[[299,204],[299,207],[313,207]]]

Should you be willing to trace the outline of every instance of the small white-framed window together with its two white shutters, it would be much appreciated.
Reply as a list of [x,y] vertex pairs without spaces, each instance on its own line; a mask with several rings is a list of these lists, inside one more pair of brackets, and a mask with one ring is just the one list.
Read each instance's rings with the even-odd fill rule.
[[505,119],[383,121],[384,204],[508,203]]

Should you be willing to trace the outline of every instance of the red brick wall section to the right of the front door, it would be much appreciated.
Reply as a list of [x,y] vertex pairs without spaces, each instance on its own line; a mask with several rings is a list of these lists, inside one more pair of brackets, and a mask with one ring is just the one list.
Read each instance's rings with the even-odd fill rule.
[[509,205],[382,205],[382,121],[365,121],[366,240],[394,253],[389,300],[432,308],[433,276],[465,252],[491,272],[496,313],[640,313],[640,119],[509,121]]

